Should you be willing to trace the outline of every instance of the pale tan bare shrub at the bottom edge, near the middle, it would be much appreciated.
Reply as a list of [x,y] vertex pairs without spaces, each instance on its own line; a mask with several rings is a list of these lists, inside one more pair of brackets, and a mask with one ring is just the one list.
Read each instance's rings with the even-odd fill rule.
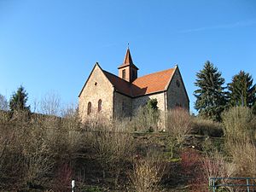
[[165,172],[160,154],[148,151],[145,157],[133,160],[133,172],[130,174],[131,189],[137,192],[157,192]]

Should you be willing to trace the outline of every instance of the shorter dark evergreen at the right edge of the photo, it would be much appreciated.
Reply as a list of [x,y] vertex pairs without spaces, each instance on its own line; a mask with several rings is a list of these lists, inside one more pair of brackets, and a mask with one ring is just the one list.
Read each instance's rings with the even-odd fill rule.
[[256,101],[256,85],[249,73],[240,71],[228,84],[228,98],[230,106],[242,106],[252,108]]

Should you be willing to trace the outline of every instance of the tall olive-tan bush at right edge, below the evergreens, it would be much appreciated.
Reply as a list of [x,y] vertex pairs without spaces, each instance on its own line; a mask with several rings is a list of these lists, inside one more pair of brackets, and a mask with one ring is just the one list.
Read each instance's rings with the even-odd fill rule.
[[236,165],[236,176],[256,177],[255,116],[244,107],[223,113],[227,153]]

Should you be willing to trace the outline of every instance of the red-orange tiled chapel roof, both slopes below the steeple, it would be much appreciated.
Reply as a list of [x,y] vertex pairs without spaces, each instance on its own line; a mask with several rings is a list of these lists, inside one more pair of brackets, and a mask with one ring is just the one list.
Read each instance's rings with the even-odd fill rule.
[[131,84],[118,76],[103,71],[114,89],[127,96],[144,96],[150,93],[166,90],[166,86],[172,79],[175,68],[165,71],[151,73],[135,79]]

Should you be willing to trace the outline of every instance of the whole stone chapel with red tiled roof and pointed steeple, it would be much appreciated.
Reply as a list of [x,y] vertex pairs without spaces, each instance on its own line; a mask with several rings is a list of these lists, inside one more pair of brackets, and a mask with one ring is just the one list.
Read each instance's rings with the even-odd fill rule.
[[106,119],[132,117],[140,106],[153,98],[157,99],[160,112],[177,107],[189,111],[189,96],[177,65],[142,77],[138,77],[138,70],[129,48],[118,67],[118,76],[104,71],[96,63],[79,93],[82,121],[98,116]]

